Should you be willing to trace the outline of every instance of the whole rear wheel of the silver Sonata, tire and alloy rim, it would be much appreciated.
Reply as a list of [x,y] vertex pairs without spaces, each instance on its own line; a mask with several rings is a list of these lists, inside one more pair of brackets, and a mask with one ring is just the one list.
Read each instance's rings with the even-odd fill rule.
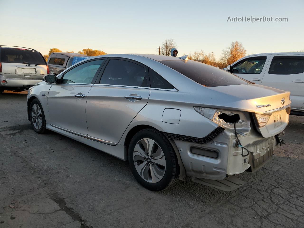
[[144,129],[136,133],[128,158],[136,180],[151,191],[161,191],[178,180],[179,166],[169,140],[159,131]]

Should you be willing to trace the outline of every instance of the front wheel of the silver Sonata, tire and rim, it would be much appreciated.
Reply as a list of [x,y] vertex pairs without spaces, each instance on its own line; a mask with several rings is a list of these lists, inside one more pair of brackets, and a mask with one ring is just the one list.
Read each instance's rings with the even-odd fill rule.
[[39,134],[43,134],[46,130],[46,123],[42,105],[37,98],[31,102],[31,105],[29,107],[29,118],[34,131]]

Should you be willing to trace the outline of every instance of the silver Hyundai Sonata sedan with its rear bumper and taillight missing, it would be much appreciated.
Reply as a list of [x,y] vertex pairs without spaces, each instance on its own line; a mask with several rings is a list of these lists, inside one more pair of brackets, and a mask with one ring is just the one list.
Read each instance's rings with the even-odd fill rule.
[[91,57],[29,89],[28,119],[129,161],[159,191],[186,176],[231,191],[283,143],[290,92],[256,85],[186,57]]

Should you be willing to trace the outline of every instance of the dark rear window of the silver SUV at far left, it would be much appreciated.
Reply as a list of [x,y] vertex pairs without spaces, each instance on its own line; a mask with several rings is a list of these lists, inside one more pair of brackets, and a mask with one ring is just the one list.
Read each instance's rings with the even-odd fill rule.
[[46,65],[43,56],[38,51],[15,48],[1,48],[1,62]]

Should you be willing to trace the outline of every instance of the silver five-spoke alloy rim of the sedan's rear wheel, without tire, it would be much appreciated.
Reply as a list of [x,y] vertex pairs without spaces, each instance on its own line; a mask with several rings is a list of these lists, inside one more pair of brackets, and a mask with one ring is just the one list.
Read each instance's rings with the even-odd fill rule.
[[157,183],[164,177],[166,159],[163,150],[154,140],[139,140],[134,147],[133,161],[136,171],[145,181]]

